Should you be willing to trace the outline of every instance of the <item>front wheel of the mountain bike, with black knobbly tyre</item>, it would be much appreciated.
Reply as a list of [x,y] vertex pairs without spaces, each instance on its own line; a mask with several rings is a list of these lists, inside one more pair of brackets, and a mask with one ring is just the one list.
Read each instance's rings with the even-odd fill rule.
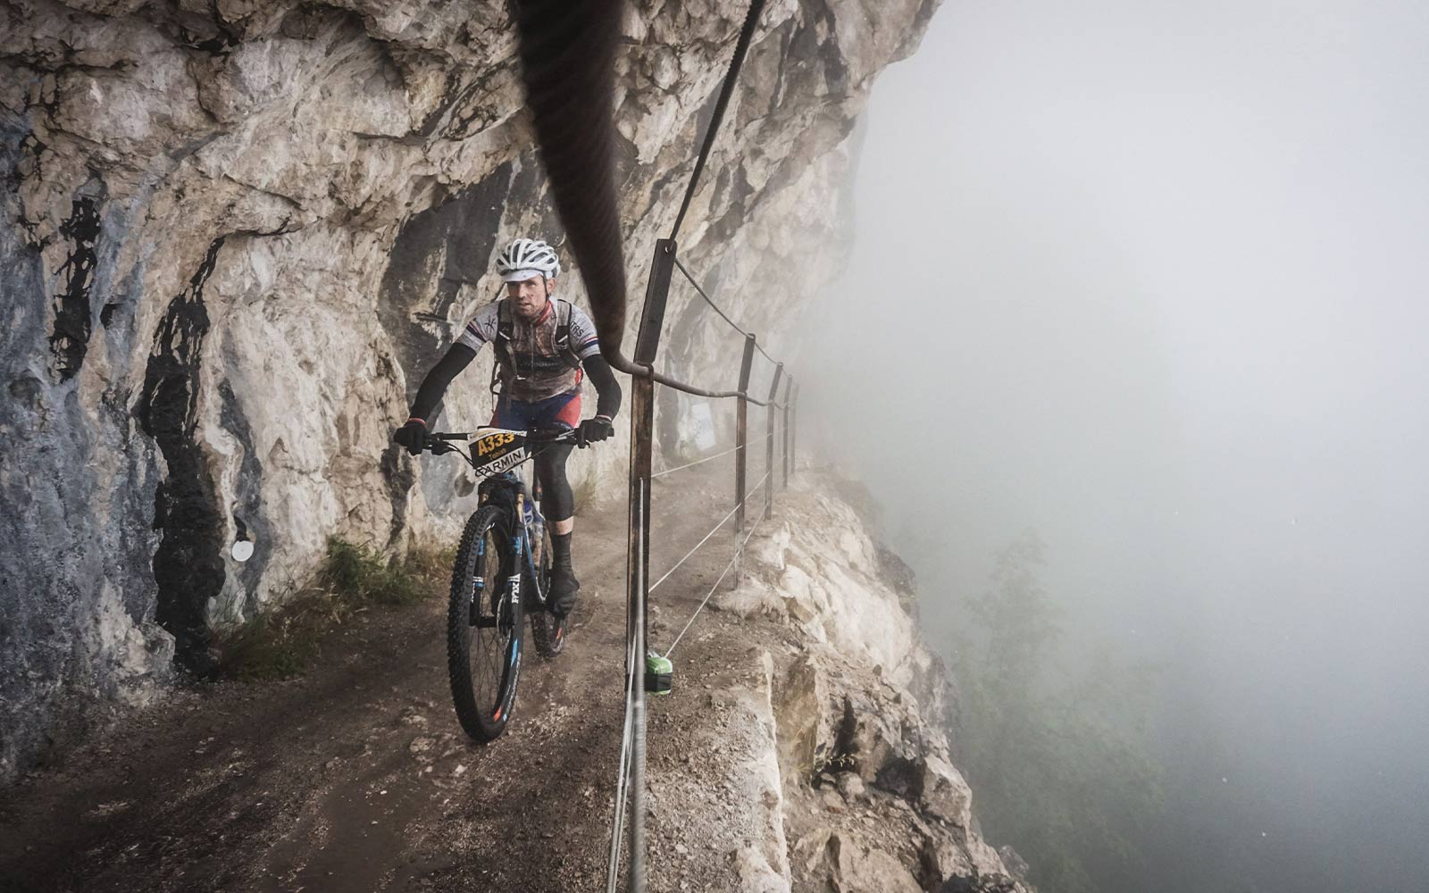
[[522,670],[520,582],[506,513],[477,509],[466,522],[447,606],[447,672],[462,729],[490,742],[506,732]]

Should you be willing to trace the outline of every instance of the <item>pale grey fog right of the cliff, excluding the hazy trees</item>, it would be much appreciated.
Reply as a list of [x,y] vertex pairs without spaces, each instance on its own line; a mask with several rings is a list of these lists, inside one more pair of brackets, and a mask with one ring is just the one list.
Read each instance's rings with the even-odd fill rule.
[[1075,650],[1165,666],[1167,872],[1429,877],[1425,46],[1410,3],[949,0],[875,91],[806,417],[935,640],[1032,527]]

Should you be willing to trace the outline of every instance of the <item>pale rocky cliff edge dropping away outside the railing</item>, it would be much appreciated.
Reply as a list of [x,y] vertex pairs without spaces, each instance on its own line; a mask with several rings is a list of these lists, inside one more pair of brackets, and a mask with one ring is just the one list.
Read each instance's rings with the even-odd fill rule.
[[[806,469],[652,704],[653,889],[1026,893],[953,766],[915,580],[840,479]],[[653,640],[679,630],[664,603]],[[1012,866],[1009,869],[1009,866]]]

